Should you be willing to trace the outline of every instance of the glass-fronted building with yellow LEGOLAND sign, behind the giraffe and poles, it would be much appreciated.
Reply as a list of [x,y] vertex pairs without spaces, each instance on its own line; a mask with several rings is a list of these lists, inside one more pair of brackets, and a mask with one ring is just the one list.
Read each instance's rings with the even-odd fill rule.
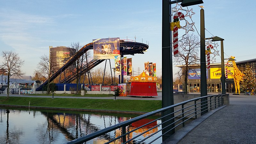
[[[236,62],[236,61],[235,61]],[[236,62],[238,69],[244,73],[246,64],[252,68],[252,72],[256,74],[256,59],[244,60]],[[184,66],[177,66],[185,70]],[[233,79],[234,69],[232,63],[228,68],[228,79],[226,79],[226,92],[235,92],[235,83]],[[200,92],[200,65],[190,65],[188,70],[188,92]],[[207,92],[221,92],[221,63],[211,64],[211,68],[206,70],[207,78]],[[185,75],[182,76],[182,83],[185,84]],[[242,84],[240,84],[240,91],[244,92]]]

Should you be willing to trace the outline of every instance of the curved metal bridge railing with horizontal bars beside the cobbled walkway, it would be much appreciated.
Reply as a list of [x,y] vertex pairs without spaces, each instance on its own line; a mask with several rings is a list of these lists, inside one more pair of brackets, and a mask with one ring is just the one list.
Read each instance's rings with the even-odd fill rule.
[[[120,136],[116,136],[115,138],[109,140],[106,143],[111,143],[116,140],[121,141],[124,144],[131,143],[133,140],[135,140],[136,143],[141,143],[141,142],[144,142],[145,140],[147,140],[147,143],[153,143],[154,141],[161,139],[161,137],[164,134],[166,134],[167,132],[170,132],[173,130],[175,131],[175,129],[177,129],[177,127],[179,127],[179,126],[184,127],[186,125],[186,123],[188,123],[189,120],[191,121],[191,120],[194,120],[194,119],[198,118],[199,116],[201,116],[201,113],[205,113],[209,109],[212,110],[212,109],[222,106],[224,103],[224,99],[223,99],[224,96],[225,96],[225,94],[208,95],[208,96],[204,96],[204,97],[186,100],[186,101],[174,104],[172,106],[168,106],[165,108],[161,108],[161,109],[149,112],[149,113],[141,115],[141,116],[137,116],[135,118],[129,119],[122,123],[115,124],[113,126],[99,130],[97,132],[93,132],[84,137],[80,137],[76,140],[72,140],[72,141],[68,142],[68,144],[84,143],[84,142],[87,142],[94,138],[100,137],[104,134],[108,134],[109,132],[118,130],[118,129],[122,129],[122,134]],[[205,100],[205,101],[203,101],[203,100]],[[143,125],[135,128],[129,132],[126,131],[126,127],[129,126],[130,124],[135,123],[144,118],[148,118],[149,116],[154,116],[154,115],[163,113],[170,109],[174,109],[174,112],[170,113],[168,115],[165,115],[165,116],[161,116],[151,122],[148,122],[147,124],[143,124]],[[161,120],[162,118],[164,118],[166,116],[170,116],[170,115],[174,115],[174,116],[171,119],[169,119],[165,122],[156,124],[152,127],[152,123],[154,123],[154,122],[156,123],[156,121]],[[156,127],[160,127],[164,123],[168,123],[168,121],[170,121],[172,123],[164,128],[162,127],[160,129],[158,129],[156,132],[153,131],[153,129],[155,129]],[[143,129],[143,127],[150,125],[150,124],[151,124],[150,129]],[[166,130],[166,128],[170,127],[171,125],[174,125],[174,126],[171,129]],[[138,130],[140,130],[140,134],[138,134],[136,136],[134,135],[134,137],[132,137],[132,138],[130,138],[130,136],[128,136],[132,132],[135,132]],[[163,130],[165,133],[162,132]],[[147,136],[145,136],[145,133],[147,133],[149,131],[153,131],[153,132],[150,132],[150,135],[147,134]],[[142,135],[143,135],[143,139],[140,137]],[[126,140],[126,138],[129,138],[129,140]]]

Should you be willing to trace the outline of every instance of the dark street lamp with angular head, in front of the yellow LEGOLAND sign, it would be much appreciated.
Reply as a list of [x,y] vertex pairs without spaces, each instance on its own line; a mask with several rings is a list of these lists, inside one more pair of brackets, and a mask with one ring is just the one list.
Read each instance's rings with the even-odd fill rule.
[[223,38],[214,36],[212,42],[220,41],[220,53],[221,53],[221,94],[226,94],[226,84],[225,84],[225,65],[224,65],[224,49],[223,49]]

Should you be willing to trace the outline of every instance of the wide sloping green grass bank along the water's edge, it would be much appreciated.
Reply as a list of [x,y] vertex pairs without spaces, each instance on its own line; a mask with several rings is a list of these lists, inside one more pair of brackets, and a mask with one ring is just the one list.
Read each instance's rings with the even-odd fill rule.
[[161,100],[104,100],[69,98],[0,97],[0,104],[53,108],[84,108],[117,111],[151,112],[162,108]]

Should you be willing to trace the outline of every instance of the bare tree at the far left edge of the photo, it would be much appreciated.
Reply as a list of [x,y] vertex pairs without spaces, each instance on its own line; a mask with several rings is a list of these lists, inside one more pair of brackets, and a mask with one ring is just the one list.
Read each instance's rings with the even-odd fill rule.
[[0,68],[4,68],[7,71],[7,76],[8,76],[7,98],[9,98],[10,76],[24,75],[24,73],[22,73],[20,70],[21,66],[24,64],[24,60],[20,59],[18,53],[12,52],[12,51],[3,51],[2,57],[3,57],[4,61],[3,61],[3,65],[0,65]]

